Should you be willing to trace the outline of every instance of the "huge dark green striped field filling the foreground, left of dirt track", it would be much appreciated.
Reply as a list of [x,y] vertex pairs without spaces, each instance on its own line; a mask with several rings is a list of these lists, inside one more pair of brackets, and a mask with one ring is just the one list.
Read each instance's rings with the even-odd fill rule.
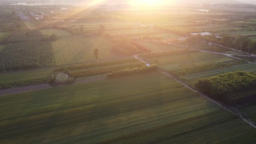
[[4,144],[233,144],[256,136],[233,114],[158,71],[5,95],[0,104]]

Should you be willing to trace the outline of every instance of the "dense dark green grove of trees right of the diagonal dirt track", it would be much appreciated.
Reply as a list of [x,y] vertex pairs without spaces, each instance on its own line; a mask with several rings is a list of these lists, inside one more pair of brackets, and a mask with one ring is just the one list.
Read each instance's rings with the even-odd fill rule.
[[256,100],[256,75],[235,71],[198,79],[195,87],[201,92],[228,105],[238,105]]

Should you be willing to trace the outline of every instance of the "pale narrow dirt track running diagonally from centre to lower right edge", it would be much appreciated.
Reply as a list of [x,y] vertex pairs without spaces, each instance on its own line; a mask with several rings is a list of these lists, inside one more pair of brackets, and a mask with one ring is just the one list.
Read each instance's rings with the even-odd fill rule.
[[[146,61],[144,61],[143,59],[138,57],[139,55],[134,55],[135,58],[139,59],[141,62],[145,63],[145,64],[149,64]],[[161,70],[161,68],[158,70],[161,73],[165,74],[166,76],[176,80],[177,82],[181,83],[183,86],[191,89],[192,91],[204,96],[204,98],[207,98],[208,100],[216,103],[217,105],[220,105],[221,107],[223,107],[224,109],[230,111],[231,113],[236,114],[237,116],[240,117],[240,119],[242,119],[244,122],[248,123],[250,126],[252,126],[253,128],[256,128],[256,123],[253,122],[249,116],[247,116],[245,113],[243,113],[242,111],[238,110],[238,108],[235,107],[230,107],[228,105],[223,104],[222,102],[219,101],[215,101],[214,99],[211,99],[210,97],[208,97],[207,95],[202,94],[201,92],[199,92],[198,90],[192,88],[191,86],[187,85],[186,83],[182,82],[182,80],[178,79],[177,77],[174,77],[168,73],[166,73],[164,70]]]

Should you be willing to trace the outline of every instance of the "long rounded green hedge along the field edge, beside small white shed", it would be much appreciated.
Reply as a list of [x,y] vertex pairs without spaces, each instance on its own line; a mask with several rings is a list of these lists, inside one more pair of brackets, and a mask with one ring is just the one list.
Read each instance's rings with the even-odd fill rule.
[[128,75],[133,75],[133,74],[138,74],[138,73],[147,73],[147,72],[155,71],[157,69],[158,69],[157,65],[126,68],[124,70],[113,71],[112,73],[108,73],[106,76],[107,77],[128,76]]

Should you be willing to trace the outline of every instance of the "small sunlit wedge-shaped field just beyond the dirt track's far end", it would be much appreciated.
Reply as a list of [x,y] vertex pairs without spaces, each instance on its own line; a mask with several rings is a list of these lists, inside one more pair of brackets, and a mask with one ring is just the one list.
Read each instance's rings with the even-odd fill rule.
[[137,42],[137,43],[151,50],[151,52],[163,52],[163,51],[183,49],[183,48],[178,48],[175,46],[170,46],[162,43],[150,43],[150,42]]

